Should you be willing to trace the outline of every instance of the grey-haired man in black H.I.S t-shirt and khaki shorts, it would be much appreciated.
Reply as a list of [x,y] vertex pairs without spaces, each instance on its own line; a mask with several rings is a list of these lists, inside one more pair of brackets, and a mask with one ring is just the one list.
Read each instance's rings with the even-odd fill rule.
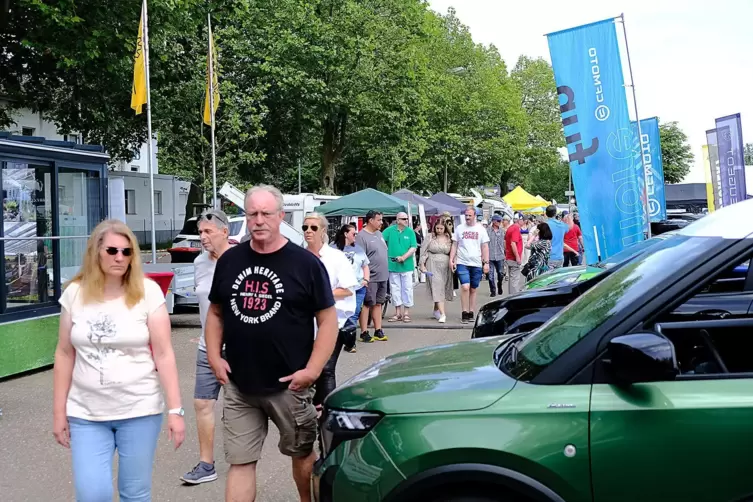
[[334,350],[337,314],[322,262],[280,234],[282,203],[274,187],[248,191],[251,240],[220,257],[209,294],[207,358],[225,387],[227,500],[255,498],[268,419],[280,430],[280,452],[293,459],[301,502],[311,500],[317,427],[311,386]]

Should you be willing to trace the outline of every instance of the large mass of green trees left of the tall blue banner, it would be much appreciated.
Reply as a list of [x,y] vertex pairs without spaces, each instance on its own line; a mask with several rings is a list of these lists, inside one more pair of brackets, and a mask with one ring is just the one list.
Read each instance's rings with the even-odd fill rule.
[[[422,0],[150,0],[151,89],[160,169],[211,186],[201,122],[206,16],[219,53],[218,184],[348,193],[520,183],[545,197],[567,173],[554,76],[512,72],[453,10]],[[146,139],[130,109],[140,2],[17,0],[3,19],[0,94],[62,132],[130,160]],[[0,109],[0,126],[9,121]],[[564,181],[563,181],[564,180]],[[535,189],[533,188],[535,187]]]

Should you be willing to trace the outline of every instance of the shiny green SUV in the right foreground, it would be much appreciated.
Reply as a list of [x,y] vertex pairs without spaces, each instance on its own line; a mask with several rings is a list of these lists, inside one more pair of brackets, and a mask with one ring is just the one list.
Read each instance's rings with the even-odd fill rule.
[[[753,200],[613,269],[533,332],[395,354],[325,402],[320,502],[751,500]],[[748,305],[742,303],[748,302]]]

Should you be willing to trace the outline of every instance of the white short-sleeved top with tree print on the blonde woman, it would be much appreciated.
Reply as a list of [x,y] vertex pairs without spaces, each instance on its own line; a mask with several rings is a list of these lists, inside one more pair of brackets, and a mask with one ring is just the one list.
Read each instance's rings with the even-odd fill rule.
[[107,421],[164,410],[146,321],[165,297],[150,279],[144,279],[144,292],[131,309],[124,298],[83,305],[78,284],[63,292],[60,304],[71,314],[76,349],[68,416]]

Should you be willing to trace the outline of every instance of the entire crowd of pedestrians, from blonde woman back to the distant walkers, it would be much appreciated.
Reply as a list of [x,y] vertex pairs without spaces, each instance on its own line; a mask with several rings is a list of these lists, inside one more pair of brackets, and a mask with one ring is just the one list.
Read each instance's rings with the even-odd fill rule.
[[[300,500],[311,500],[317,419],[336,386],[340,352],[357,350],[359,326],[361,342],[387,341],[381,322],[388,291],[395,307],[389,322],[411,322],[416,268],[427,278],[438,322],[446,322],[446,303],[459,288],[461,321],[468,323],[484,275],[492,297],[502,294],[505,278],[515,293],[546,270],[577,265],[583,245],[573,215],[558,218],[555,206],[538,222],[494,215],[489,228],[469,206],[463,223],[437,218],[425,239],[407,214],[382,230],[383,215],[369,211],[360,232],[344,225],[331,245],[327,219],[310,213],[303,248],[280,233],[282,207],[276,188],[250,189],[244,208],[249,238],[237,246],[228,241],[222,211],[207,210],[198,222],[204,248],[194,263],[201,319],[193,396],[199,459],[180,479],[217,479],[214,417],[224,389],[228,501],[255,499],[269,422],[279,430],[280,452],[291,458]],[[76,498],[112,499],[117,452],[120,500],[148,501],[163,414],[167,408],[177,448],[185,436],[184,410],[165,298],[144,276],[136,238],[125,224],[97,226],[60,303],[53,433],[71,449]]]

